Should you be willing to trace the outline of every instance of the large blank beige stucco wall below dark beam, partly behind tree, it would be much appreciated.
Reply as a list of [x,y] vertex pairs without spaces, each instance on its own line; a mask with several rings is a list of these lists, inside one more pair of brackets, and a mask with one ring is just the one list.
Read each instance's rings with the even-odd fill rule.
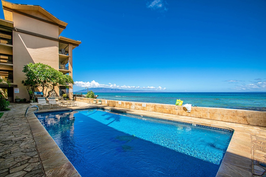
[[[58,42],[13,31],[13,76],[14,84],[17,84],[17,88],[20,89],[20,93],[15,93],[14,98],[19,96],[20,99],[29,99],[26,87],[21,84],[21,81],[25,79],[25,73],[22,70],[28,63],[39,62],[58,70]],[[59,93],[59,88],[56,87],[56,91]]]

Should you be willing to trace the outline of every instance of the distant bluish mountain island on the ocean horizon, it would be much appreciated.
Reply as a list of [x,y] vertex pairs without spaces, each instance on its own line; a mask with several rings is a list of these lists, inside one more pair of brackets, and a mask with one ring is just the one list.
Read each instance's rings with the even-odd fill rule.
[[[148,93],[148,92],[161,92],[161,91],[154,91],[154,90],[124,90],[124,89],[111,89],[111,88],[89,88],[89,91],[92,90],[94,93]],[[74,91],[74,92],[87,92],[87,89]]]

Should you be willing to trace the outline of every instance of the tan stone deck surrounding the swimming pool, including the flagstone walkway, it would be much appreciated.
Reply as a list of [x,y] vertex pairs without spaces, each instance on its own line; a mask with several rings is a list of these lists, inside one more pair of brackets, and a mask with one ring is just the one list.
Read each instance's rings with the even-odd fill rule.
[[[80,176],[34,114],[24,117],[30,104],[11,104],[11,111],[0,119],[1,176]],[[218,128],[233,129],[233,137],[217,176],[264,176],[266,164],[266,128],[158,112],[101,106],[150,117],[176,120]],[[79,102],[79,106],[43,109],[39,112],[97,107]],[[30,112],[30,111],[29,111]]]

